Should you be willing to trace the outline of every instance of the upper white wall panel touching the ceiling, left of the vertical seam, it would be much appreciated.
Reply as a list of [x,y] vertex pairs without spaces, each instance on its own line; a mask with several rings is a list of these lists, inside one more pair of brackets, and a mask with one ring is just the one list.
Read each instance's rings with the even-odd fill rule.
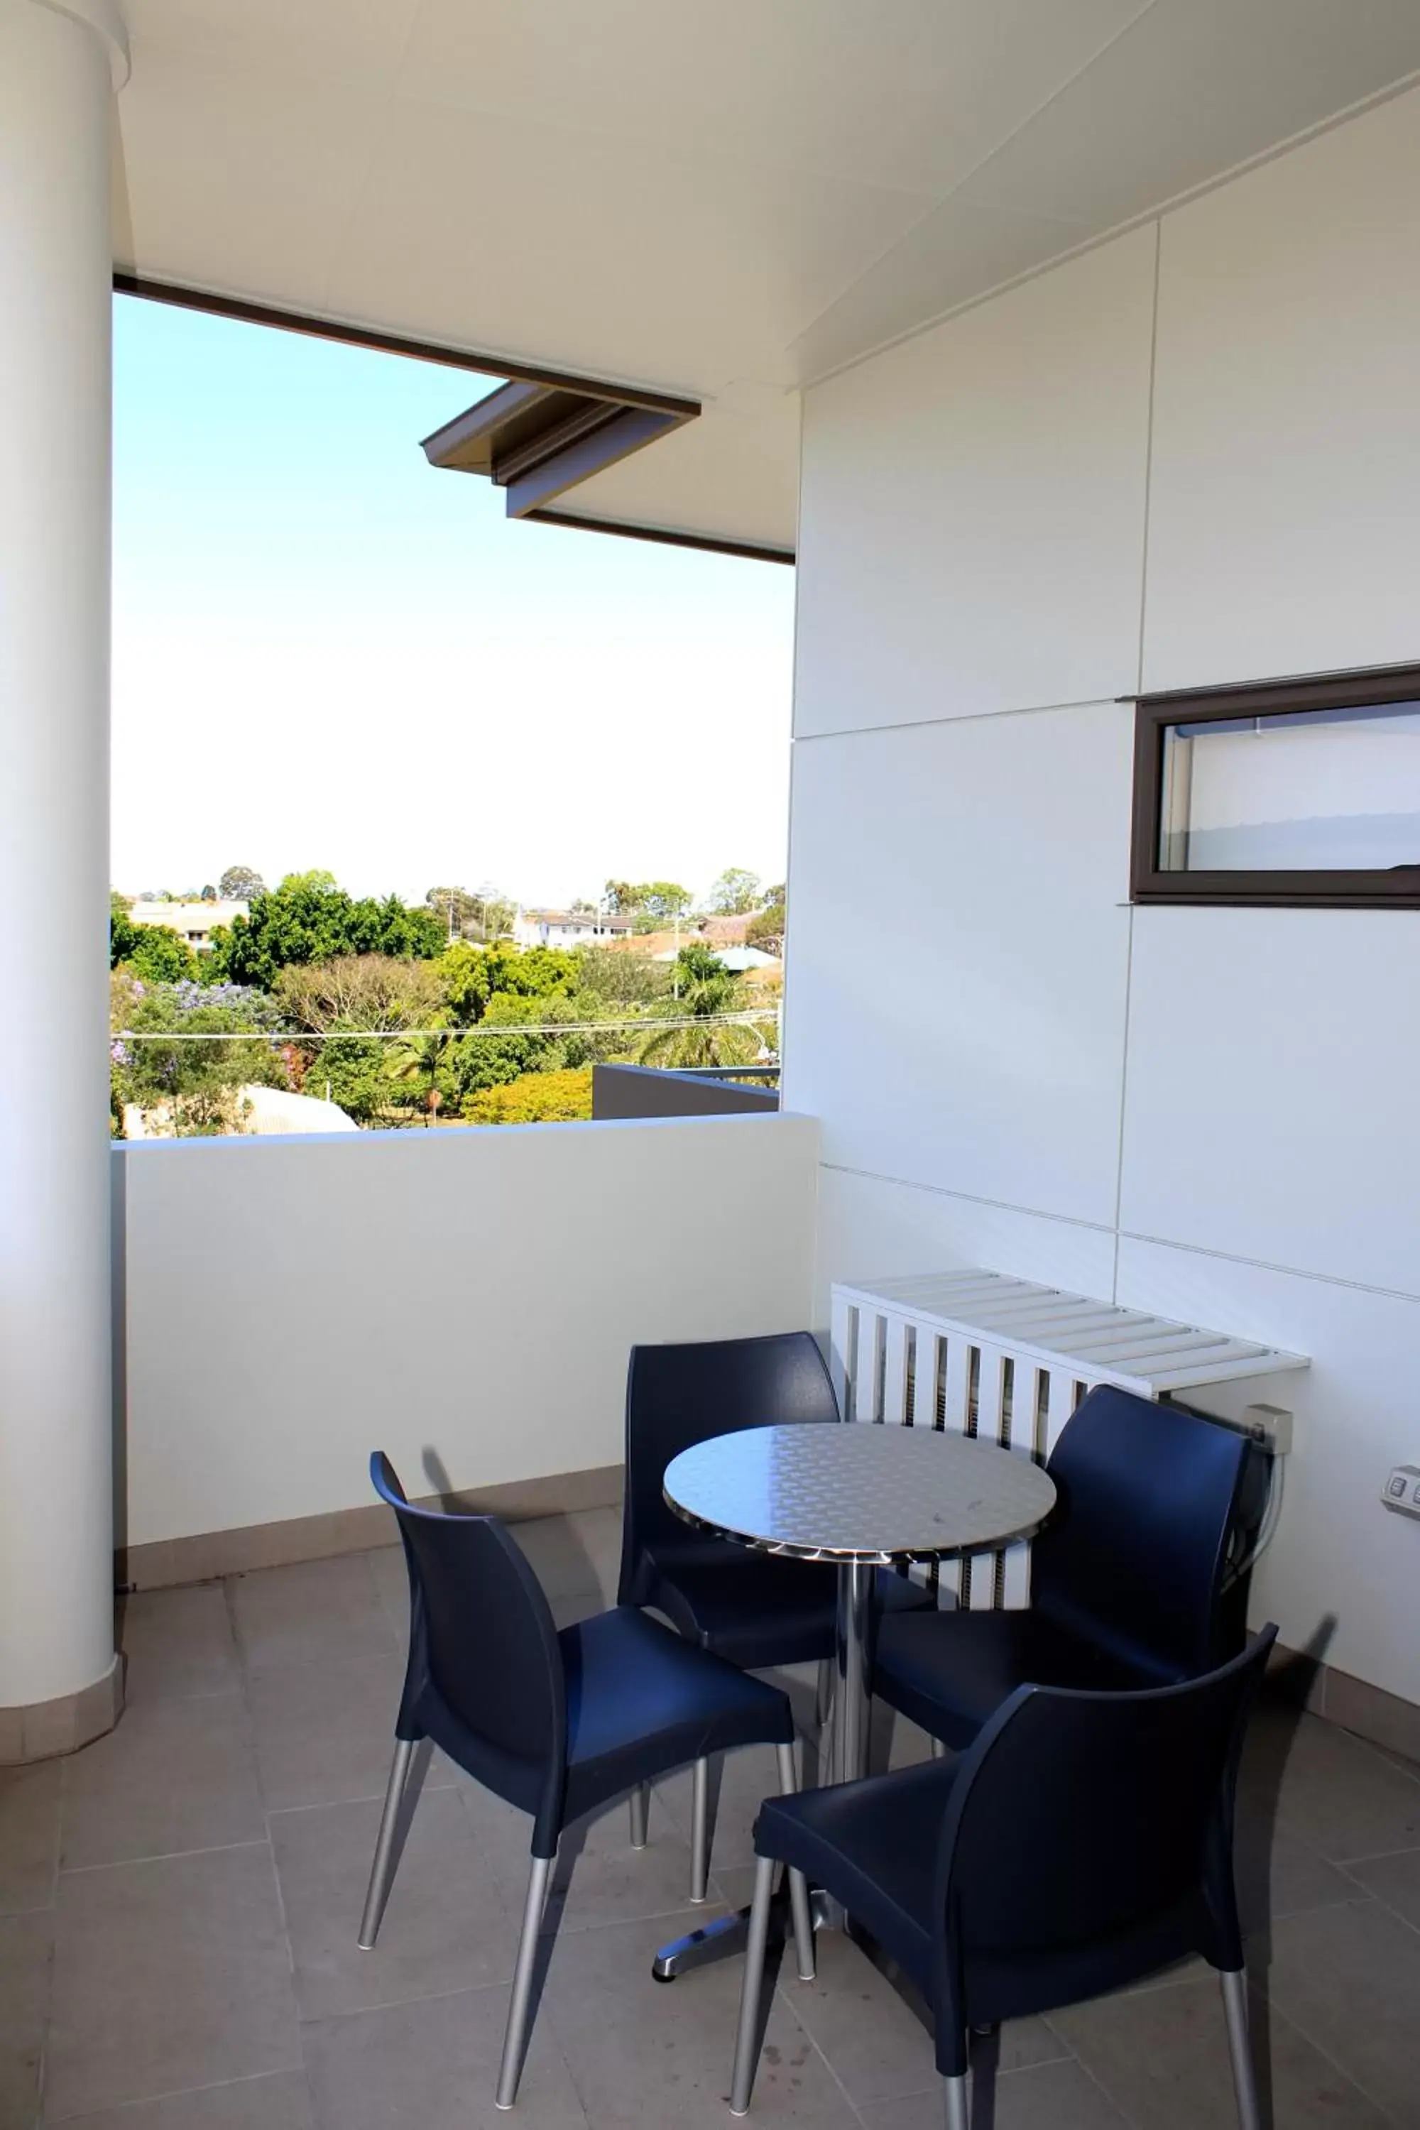
[[1154,230],[805,398],[796,731],[1139,673]]

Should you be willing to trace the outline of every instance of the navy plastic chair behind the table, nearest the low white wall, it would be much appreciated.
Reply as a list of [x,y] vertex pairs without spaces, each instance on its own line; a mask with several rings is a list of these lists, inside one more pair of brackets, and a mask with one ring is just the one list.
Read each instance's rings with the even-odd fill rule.
[[[668,1508],[662,1480],[681,1451],[741,1427],[839,1423],[839,1402],[811,1331],[771,1338],[632,1346],[626,1378],[626,1495],[620,1604],[654,1606],[688,1642],[745,1670],[828,1666],[835,1653],[837,1568],[773,1559],[694,1531]],[[920,1610],[930,1598],[903,1576],[877,1576],[879,1612]],[[820,1721],[826,1708],[820,1674]],[[692,1793],[692,1902],[709,1881],[709,1770]],[[641,1791],[632,1847],[645,1842]]]

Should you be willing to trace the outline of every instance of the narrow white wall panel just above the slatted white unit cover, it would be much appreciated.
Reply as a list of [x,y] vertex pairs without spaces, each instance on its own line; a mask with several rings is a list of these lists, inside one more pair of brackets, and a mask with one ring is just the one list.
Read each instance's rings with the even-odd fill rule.
[[835,1280],[956,1272],[962,1265],[1005,1267],[1022,1280],[1081,1295],[1107,1297],[1111,1291],[1113,1233],[1107,1229],[830,1167],[820,1174],[818,1206],[818,1325],[828,1323]]

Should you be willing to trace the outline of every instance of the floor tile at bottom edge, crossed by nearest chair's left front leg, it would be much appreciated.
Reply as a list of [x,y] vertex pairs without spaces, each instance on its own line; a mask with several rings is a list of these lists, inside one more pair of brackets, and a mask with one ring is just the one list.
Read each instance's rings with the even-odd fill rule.
[[[664,1934],[698,1921],[690,1908],[671,1917]],[[551,2017],[592,2130],[724,2130],[743,1966],[724,1960],[664,1987],[651,1981],[656,1943],[658,1930],[645,1923],[558,1938],[543,2017]],[[769,2015],[752,2119],[856,2130],[828,2066],[781,1996]]]

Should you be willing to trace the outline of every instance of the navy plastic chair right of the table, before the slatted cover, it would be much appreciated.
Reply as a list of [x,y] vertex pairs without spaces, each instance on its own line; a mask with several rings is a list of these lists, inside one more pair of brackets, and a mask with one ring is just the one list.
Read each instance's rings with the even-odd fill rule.
[[1245,1436],[1099,1384],[1045,1468],[1030,1606],[886,1619],[873,1691],[960,1749],[1024,1683],[1122,1691],[1213,1670],[1245,1640],[1228,1576],[1254,1463]]

